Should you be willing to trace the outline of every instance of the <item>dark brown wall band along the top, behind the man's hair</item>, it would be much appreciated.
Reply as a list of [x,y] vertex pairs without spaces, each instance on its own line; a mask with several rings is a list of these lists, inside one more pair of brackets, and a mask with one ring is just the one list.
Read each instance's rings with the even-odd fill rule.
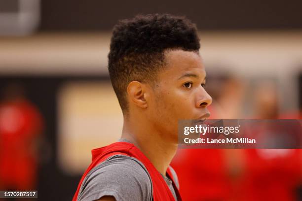
[[301,0],[44,0],[42,31],[111,30],[138,13],[186,15],[199,30],[302,29]]

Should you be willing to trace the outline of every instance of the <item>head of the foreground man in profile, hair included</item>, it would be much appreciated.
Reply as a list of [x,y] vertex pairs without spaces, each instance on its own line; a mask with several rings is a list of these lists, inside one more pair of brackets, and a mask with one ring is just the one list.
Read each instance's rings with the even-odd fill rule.
[[206,114],[212,100],[203,89],[199,47],[196,26],[185,17],[153,14],[120,21],[108,57],[124,115],[169,123]]

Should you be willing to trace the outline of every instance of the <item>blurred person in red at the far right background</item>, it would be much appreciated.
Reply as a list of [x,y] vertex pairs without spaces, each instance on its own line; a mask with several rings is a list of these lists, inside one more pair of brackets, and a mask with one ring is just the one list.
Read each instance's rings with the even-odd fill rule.
[[[254,119],[278,119],[278,91],[276,83],[259,81],[251,93]],[[281,124],[282,122],[280,122]],[[293,127],[294,128],[294,127]],[[297,127],[295,127],[297,128]],[[253,128],[251,132],[270,142],[301,140],[301,131],[288,131],[282,125],[269,124]],[[296,135],[294,135],[296,134]],[[269,138],[270,137],[270,138]],[[260,143],[260,142],[259,142]],[[244,149],[243,175],[238,183],[239,200],[246,201],[296,201],[297,188],[302,179],[300,149]]]

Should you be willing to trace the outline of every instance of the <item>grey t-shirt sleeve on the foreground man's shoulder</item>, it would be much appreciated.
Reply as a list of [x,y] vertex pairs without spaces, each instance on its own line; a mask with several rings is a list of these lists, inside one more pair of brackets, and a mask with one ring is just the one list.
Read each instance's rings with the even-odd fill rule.
[[152,184],[145,167],[132,157],[115,157],[94,167],[86,176],[78,201],[113,196],[116,201],[151,201]]

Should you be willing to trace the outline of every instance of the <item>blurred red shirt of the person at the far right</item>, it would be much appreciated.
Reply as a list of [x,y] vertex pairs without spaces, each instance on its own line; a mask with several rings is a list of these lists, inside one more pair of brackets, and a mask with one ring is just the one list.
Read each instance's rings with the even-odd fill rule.
[[[279,118],[301,119],[301,114],[300,116],[299,113],[280,115]],[[290,128],[286,130],[288,129]],[[265,131],[254,130],[254,132],[274,133],[274,137],[277,137],[286,132],[281,130],[282,127],[276,126]],[[290,133],[297,140],[301,140],[299,131]],[[301,149],[245,149],[244,162],[244,175],[238,189],[239,200],[296,201],[298,199],[296,189],[302,181]]]

